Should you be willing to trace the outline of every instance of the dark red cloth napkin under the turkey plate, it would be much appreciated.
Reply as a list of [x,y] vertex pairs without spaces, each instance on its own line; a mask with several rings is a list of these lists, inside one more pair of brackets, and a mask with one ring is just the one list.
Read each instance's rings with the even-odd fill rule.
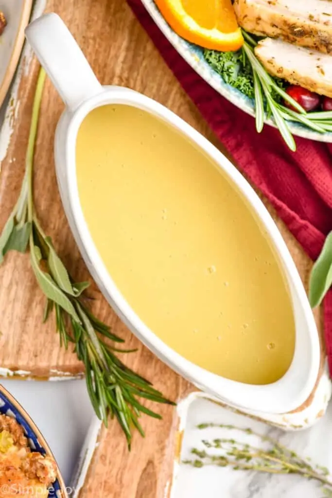
[[[177,53],[140,0],[127,0],[139,22],[247,178],[269,199],[312,259],[332,230],[332,144],[296,138],[291,152],[279,131],[255,121],[210,87]],[[324,302],[325,339],[332,373],[332,291]]]

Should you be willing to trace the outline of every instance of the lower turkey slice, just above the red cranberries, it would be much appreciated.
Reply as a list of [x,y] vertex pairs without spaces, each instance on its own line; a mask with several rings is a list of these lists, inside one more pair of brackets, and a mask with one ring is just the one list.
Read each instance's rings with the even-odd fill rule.
[[272,38],[261,40],[255,54],[272,76],[332,97],[332,55]]

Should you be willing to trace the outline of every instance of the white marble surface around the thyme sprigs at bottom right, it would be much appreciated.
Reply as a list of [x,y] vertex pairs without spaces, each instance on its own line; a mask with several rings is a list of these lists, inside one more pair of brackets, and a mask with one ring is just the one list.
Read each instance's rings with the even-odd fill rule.
[[[197,429],[197,424],[214,422],[231,424],[237,427],[250,427],[260,434],[269,434],[280,443],[297,452],[301,457],[309,457],[312,463],[328,467],[332,472],[332,406],[325,417],[310,429],[298,432],[285,432],[271,428],[261,422],[250,420],[242,415],[221,408],[204,400],[194,399],[186,407],[182,416],[184,437],[180,460],[191,459],[193,447],[203,449],[202,439],[235,437],[244,441],[242,433],[220,428]],[[230,435],[231,434],[231,435]],[[251,438],[253,436],[250,436]],[[251,444],[257,444],[251,439]],[[209,450],[211,451],[211,450]],[[220,450],[219,450],[220,451]],[[171,498],[320,498],[323,493],[320,485],[296,475],[270,475],[257,472],[234,471],[231,468],[215,466],[193,468],[180,464],[175,466],[175,479]],[[332,480],[332,478],[331,478]]]

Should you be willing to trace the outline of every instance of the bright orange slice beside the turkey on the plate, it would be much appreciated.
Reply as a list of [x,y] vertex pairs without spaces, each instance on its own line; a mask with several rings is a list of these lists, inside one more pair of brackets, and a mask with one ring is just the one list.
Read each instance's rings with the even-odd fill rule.
[[211,50],[238,50],[243,44],[231,0],[155,0],[172,29]]

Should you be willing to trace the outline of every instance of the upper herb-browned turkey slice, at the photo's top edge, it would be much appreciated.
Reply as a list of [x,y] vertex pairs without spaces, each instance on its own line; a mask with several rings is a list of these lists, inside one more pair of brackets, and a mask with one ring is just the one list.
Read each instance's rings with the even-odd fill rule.
[[331,0],[234,0],[234,9],[249,33],[332,52]]

